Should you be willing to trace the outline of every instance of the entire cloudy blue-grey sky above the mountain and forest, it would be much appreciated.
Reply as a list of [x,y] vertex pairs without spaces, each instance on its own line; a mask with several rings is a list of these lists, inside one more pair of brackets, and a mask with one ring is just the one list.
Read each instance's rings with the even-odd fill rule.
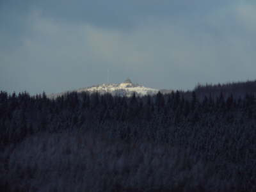
[[0,90],[254,80],[255,20],[255,0],[0,0]]

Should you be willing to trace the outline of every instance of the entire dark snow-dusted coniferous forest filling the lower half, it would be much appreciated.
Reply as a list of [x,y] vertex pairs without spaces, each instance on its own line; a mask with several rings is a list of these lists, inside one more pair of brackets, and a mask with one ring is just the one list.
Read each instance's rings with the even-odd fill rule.
[[0,191],[256,191],[256,81],[0,93]]

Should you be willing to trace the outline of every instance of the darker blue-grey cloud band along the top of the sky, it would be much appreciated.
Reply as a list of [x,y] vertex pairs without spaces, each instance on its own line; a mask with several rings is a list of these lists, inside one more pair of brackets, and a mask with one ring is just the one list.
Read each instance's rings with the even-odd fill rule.
[[[44,17],[70,22],[86,22],[95,26],[106,28],[131,27],[141,20],[151,17],[191,17],[205,15],[205,13],[227,6],[235,1],[186,1],[186,0],[94,0],[94,1],[14,1],[2,2],[1,16],[10,17],[11,20],[26,17],[31,10],[40,10]],[[19,15],[17,18],[15,15]],[[9,20],[10,21],[10,20]],[[127,29],[127,28],[125,28]]]

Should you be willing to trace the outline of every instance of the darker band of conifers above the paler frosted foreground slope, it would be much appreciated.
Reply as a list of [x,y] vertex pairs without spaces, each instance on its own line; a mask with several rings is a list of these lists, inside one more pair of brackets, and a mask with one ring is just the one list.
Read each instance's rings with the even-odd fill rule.
[[256,179],[255,85],[207,84],[193,92],[144,97],[71,92],[48,99],[45,93],[1,92],[0,148],[38,134],[74,131],[125,143],[162,143],[189,149],[250,188]]

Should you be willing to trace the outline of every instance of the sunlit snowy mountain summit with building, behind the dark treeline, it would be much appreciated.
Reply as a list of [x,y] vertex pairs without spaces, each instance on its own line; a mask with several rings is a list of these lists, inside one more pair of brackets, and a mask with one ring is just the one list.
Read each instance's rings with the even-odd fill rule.
[[[118,95],[118,96],[127,96],[131,97],[133,93],[139,96],[143,95],[154,95],[159,90],[154,88],[147,88],[145,86],[141,86],[139,84],[132,83],[131,79],[126,79],[123,83],[104,83],[96,86],[90,86],[87,88],[80,88],[78,90],[73,90],[72,92],[89,92],[89,93],[95,93],[98,92],[100,94],[104,93],[111,93],[112,95]],[[62,93],[53,93],[51,95],[48,95],[49,98],[56,98],[61,95],[65,95],[65,93],[68,92],[62,92]]]

